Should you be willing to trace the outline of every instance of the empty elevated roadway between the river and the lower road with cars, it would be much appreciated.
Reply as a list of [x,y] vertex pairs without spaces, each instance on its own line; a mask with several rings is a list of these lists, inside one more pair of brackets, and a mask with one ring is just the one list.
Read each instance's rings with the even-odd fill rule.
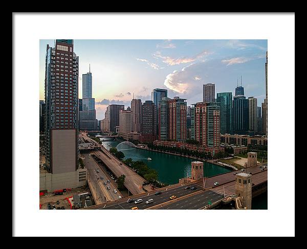
[[[87,137],[84,133],[80,134],[80,137],[82,137],[84,140],[91,140],[98,144],[96,141],[90,139]],[[100,145],[99,145],[100,146]],[[130,191],[131,194],[141,194],[145,193],[145,191],[142,189],[143,183],[145,179],[131,170],[128,166],[121,163],[115,156],[113,156],[109,151],[107,151],[105,148],[100,146],[101,150],[96,149],[92,153],[94,153],[97,157],[99,157],[104,165],[113,172],[113,174],[116,177],[119,177],[121,175],[125,175],[125,187]]]

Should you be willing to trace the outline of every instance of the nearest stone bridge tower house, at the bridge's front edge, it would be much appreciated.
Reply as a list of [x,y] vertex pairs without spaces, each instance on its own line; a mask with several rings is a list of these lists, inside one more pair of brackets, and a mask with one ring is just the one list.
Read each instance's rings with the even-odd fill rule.
[[235,175],[235,193],[243,197],[243,203],[247,209],[252,209],[252,175],[247,173]]

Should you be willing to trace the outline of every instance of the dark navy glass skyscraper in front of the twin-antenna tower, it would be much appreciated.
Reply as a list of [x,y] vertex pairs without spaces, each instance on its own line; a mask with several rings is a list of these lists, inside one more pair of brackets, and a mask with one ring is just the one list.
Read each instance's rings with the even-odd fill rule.
[[232,101],[232,123],[235,134],[247,134],[249,129],[249,100],[245,96],[234,96]]

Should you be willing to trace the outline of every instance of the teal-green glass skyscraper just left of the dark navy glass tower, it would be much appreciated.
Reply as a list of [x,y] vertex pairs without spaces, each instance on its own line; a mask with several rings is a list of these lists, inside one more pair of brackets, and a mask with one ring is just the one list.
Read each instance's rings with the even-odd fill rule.
[[232,133],[232,93],[217,93],[216,102],[220,105],[221,133]]

